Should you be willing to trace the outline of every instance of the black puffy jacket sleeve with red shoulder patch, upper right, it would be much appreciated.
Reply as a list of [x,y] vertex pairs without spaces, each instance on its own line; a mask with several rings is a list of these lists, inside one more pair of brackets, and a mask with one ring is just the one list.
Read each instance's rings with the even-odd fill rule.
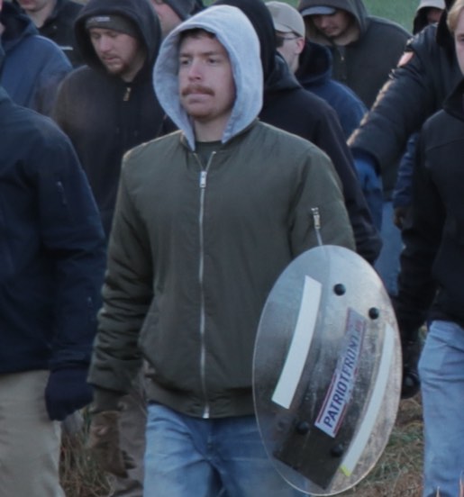
[[[446,0],[447,11],[452,4]],[[367,153],[383,171],[396,163],[411,134],[441,109],[462,77],[446,18],[444,12],[438,26],[427,26],[408,42],[403,62],[350,137],[351,149]]]

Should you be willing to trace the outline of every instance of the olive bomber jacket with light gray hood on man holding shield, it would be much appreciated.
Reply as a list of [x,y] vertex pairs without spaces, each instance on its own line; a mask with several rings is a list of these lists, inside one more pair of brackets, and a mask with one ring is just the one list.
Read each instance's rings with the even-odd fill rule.
[[[236,87],[207,163],[178,95],[179,33],[195,28],[223,44]],[[251,414],[259,315],[277,276],[317,244],[314,209],[325,243],[354,248],[330,159],[256,119],[261,78],[257,35],[236,7],[206,9],[161,47],[155,88],[180,131],[123,161],[90,372],[97,409],[130,388],[142,356],[149,400],[195,417]]]

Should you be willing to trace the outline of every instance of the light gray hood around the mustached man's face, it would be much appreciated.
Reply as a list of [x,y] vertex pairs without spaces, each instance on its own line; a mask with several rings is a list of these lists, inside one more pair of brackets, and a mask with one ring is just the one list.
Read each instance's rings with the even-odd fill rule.
[[223,132],[223,143],[257,118],[262,106],[263,88],[258,36],[240,9],[230,5],[212,6],[177,26],[161,45],[153,71],[153,83],[159,104],[184,132],[191,149],[195,149],[195,134],[192,122],[180,104],[177,69],[179,35],[196,28],[214,33],[231,59],[237,93],[231,117]]

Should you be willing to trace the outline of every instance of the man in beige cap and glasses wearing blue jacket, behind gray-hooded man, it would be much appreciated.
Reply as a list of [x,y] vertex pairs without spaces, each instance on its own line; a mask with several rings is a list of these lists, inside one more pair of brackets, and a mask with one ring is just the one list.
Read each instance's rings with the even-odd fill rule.
[[357,95],[332,79],[332,55],[323,45],[306,40],[303,17],[284,2],[267,2],[276,29],[277,51],[306,90],[321,97],[337,113],[345,137],[359,127],[368,111]]

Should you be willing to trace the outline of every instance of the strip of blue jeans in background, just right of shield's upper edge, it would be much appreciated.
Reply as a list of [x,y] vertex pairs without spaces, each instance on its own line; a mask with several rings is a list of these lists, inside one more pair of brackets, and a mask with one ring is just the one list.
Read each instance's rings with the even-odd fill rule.
[[399,256],[403,249],[401,231],[393,222],[393,203],[384,202],[382,215],[382,249],[374,265],[389,295],[398,293]]

